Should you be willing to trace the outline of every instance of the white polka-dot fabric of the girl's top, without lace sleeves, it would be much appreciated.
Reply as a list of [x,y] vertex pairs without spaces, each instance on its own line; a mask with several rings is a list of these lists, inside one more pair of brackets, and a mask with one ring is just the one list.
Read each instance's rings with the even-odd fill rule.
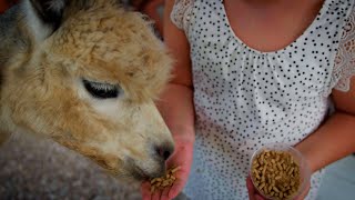
[[[196,111],[184,192],[191,199],[247,199],[252,153],[265,143],[293,146],[326,117],[334,58],[353,0],[325,0],[303,34],[273,52],[252,49],[234,34],[222,0],[190,2],[183,18],[189,24],[175,21],[191,44]],[[321,173],[313,176],[308,199],[315,198]]]

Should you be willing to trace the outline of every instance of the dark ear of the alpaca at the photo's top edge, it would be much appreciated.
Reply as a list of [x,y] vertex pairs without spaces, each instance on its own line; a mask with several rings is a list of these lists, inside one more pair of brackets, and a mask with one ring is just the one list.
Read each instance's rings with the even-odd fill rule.
[[29,0],[37,21],[51,29],[59,28],[68,0]]

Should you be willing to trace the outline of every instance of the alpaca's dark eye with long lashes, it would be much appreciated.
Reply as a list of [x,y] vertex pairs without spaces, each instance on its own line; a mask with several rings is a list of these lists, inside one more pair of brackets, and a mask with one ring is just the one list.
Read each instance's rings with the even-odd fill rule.
[[88,80],[82,80],[82,82],[88,92],[94,98],[112,99],[119,97],[120,87],[118,84],[109,84]]

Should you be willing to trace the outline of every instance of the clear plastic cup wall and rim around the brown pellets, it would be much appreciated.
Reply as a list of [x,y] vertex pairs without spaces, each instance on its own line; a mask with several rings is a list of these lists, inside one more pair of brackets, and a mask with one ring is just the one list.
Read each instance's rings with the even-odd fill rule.
[[284,151],[284,152],[288,152],[293,156],[294,161],[300,166],[300,187],[298,190],[293,193],[291,197],[288,197],[287,199],[295,199],[297,198],[300,194],[302,194],[308,187],[308,182],[311,179],[311,171],[310,168],[307,166],[307,162],[305,160],[305,158],[302,156],[302,153],[296,150],[295,148],[284,144],[284,143],[270,143],[270,144],[265,144],[264,147],[260,148],[258,150],[256,150],[252,158],[251,158],[251,162],[250,162],[250,174],[251,174],[251,179],[252,182],[254,184],[254,188],[257,190],[257,192],[264,197],[265,199],[270,199],[272,200],[273,198],[265,194],[262,190],[258,190],[258,188],[255,186],[254,182],[254,178],[252,176],[252,163],[254,161],[254,159],[256,158],[257,154],[260,154],[262,151],[264,150],[276,150],[276,151]]

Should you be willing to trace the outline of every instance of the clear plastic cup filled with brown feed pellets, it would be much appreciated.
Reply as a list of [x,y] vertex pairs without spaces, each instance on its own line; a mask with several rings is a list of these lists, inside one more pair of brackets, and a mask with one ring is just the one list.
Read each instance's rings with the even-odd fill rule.
[[307,189],[311,178],[301,152],[283,143],[266,144],[255,151],[250,174],[257,192],[271,200],[295,199]]

